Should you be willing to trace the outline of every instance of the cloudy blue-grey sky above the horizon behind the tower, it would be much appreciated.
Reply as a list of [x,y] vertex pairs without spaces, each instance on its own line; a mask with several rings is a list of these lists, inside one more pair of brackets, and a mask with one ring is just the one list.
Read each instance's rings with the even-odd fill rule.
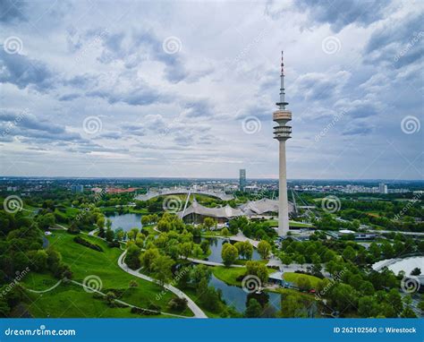
[[0,2],[0,175],[422,179],[423,1]]

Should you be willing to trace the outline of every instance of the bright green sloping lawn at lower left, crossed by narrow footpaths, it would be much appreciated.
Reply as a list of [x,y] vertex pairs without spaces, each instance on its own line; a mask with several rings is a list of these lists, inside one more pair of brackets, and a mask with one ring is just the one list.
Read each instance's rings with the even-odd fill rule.
[[[92,244],[100,245],[104,252],[94,251],[88,247],[73,242],[74,235],[66,232],[55,231],[54,235],[49,236],[48,240],[58,252],[61,252],[63,261],[67,263],[72,270],[73,280],[83,282],[84,278],[96,276],[100,279],[101,292],[107,293],[114,291],[118,293],[117,297],[123,302],[133,304],[142,308],[148,308],[149,304],[160,306],[161,311],[170,312],[167,303],[174,298],[174,294],[166,292],[159,300],[157,294],[162,291],[160,286],[150,283],[146,280],[136,278],[124,272],[117,265],[119,255],[123,252],[117,248],[109,248],[106,243],[96,237],[83,235],[82,237]],[[135,280],[137,287],[130,287],[131,280]],[[55,284],[55,278],[52,276],[37,275],[31,273],[24,279],[24,286],[35,290],[44,290]],[[88,296],[89,295],[89,296]],[[36,317],[47,317],[42,314],[45,312],[50,317],[59,317],[64,311],[64,299],[68,298],[72,305],[71,312],[67,317],[98,317],[96,308],[98,305],[106,305],[99,299],[93,299],[91,294],[87,294],[78,286],[60,285],[55,290],[42,295],[31,294],[31,298],[36,304],[30,305],[30,312]],[[42,300],[39,300],[42,297]],[[99,304],[100,303],[100,304]],[[83,310],[85,316],[78,313],[72,307],[76,306],[86,308]],[[129,309],[116,309],[106,307],[105,316],[102,317],[127,317],[125,314]],[[126,312],[126,313],[125,313]],[[186,312],[179,313],[186,316],[192,316],[192,312],[187,309]],[[128,315],[128,317],[140,317],[140,315]]]

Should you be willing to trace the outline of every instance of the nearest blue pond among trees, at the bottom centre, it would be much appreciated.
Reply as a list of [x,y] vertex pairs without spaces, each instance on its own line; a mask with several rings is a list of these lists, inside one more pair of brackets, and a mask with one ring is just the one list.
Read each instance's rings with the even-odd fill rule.
[[246,304],[250,298],[255,298],[262,305],[269,304],[276,312],[281,310],[281,295],[274,292],[262,291],[260,294],[248,294],[242,287],[230,286],[214,275],[209,280],[209,286],[221,290],[222,299],[228,306],[233,306],[238,312],[246,311]]

